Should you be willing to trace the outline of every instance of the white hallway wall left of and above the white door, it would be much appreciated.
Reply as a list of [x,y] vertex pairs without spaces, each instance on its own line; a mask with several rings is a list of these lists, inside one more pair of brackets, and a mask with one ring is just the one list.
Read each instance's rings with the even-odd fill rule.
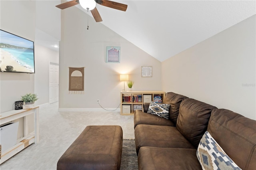
[[35,42],[35,93],[39,100],[37,105],[49,103],[49,62],[59,61],[59,52],[38,45]]

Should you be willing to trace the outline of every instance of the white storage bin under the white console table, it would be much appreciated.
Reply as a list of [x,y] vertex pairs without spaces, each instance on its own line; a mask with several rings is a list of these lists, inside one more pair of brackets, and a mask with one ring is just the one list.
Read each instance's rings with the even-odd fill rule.
[[0,144],[2,152],[16,145],[19,122],[8,123],[0,127]]

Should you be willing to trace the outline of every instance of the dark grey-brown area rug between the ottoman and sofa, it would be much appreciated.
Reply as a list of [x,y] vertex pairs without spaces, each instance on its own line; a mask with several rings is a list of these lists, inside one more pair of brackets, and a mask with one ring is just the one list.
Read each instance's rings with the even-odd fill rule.
[[134,139],[123,139],[120,170],[138,170],[138,156]]

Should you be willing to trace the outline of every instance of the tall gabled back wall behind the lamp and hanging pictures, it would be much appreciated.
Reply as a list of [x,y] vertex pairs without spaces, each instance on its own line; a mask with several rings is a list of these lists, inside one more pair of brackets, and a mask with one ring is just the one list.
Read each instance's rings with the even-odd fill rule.
[[[133,80],[133,90],[161,90],[161,63],[90,16],[62,10],[60,41],[59,108],[116,108],[123,82],[120,73]],[[89,30],[87,30],[89,18]],[[120,46],[120,63],[106,63],[106,46]],[[153,77],[141,77],[141,66],[153,66]],[[68,94],[68,67],[85,67],[84,94]],[[126,86],[127,88],[127,86]]]

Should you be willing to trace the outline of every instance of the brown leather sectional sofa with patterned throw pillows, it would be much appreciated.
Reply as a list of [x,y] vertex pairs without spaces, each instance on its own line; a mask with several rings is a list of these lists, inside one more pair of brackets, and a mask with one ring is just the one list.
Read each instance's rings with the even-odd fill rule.
[[135,112],[140,170],[202,169],[196,153],[206,130],[237,166],[255,169],[255,120],[172,92],[166,94],[164,103],[170,104],[169,120]]

